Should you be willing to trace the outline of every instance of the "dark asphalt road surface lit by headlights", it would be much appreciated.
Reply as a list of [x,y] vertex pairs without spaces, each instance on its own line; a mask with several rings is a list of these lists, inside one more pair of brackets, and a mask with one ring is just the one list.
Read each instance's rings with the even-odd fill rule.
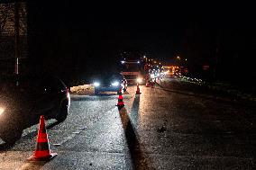
[[[170,82],[171,84],[171,82]],[[136,87],[123,95],[73,95],[67,121],[48,121],[50,147],[59,155],[31,163],[37,126],[14,148],[1,148],[0,169],[254,169],[253,107]],[[54,145],[57,144],[57,145]]]

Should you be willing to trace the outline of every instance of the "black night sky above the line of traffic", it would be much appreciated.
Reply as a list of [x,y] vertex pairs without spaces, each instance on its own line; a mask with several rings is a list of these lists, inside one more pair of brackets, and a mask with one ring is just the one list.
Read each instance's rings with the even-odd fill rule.
[[114,66],[121,51],[135,48],[167,64],[187,58],[194,71],[217,58],[220,77],[244,69],[255,76],[248,62],[255,57],[254,15],[226,7],[30,2],[29,57],[33,66],[85,76]]

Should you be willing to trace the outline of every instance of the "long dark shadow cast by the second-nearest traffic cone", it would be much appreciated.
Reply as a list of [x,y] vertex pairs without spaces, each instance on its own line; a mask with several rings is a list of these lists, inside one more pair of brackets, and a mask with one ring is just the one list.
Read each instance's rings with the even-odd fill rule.
[[138,141],[136,130],[133,128],[133,124],[130,121],[126,109],[123,107],[120,111],[120,117],[123,124],[123,130],[125,133],[128,148],[131,154],[132,164],[134,169],[149,169],[147,159],[142,153],[142,146]]

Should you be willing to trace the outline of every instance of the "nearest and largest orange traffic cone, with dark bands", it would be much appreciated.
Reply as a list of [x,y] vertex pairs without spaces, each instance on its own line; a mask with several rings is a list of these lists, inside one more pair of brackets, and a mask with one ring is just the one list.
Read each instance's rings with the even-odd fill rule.
[[39,130],[37,135],[37,144],[36,150],[32,157],[29,157],[28,160],[31,161],[47,161],[51,158],[57,156],[56,153],[50,152],[49,139],[45,128],[44,116],[40,117]]

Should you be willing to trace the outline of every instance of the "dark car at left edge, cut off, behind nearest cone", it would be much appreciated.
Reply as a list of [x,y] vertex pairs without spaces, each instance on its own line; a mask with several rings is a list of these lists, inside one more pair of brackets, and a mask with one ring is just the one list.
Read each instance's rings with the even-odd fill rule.
[[69,89],[57,77],[0,76],[0,138],[13,145],[41,115],[65,121],[69,104]]

